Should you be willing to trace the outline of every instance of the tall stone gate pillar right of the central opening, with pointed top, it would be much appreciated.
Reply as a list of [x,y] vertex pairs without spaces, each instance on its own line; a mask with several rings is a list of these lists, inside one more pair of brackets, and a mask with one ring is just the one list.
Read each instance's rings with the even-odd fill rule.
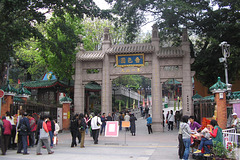
[[153,131],[163,132],[162,117],[162,85],[160,83],[160,66],[157,54],[159,52],[159,38],[157,26],[153,26],[152,45],[155,52],[152,54],[152,127]]

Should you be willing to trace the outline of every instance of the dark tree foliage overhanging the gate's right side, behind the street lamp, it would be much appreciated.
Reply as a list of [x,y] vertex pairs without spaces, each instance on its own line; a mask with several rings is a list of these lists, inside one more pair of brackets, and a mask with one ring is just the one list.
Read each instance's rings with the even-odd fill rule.
[[112,12],[121,16],[119,23],[127,24],[128,42],[133,42],[139,27],[147,23],[151,14],[159,26],[162,42],[179,45],[182,28],[188,28],[196,59],[192,65],[196,77],[210,86],[218,76],[224,79],[222,55],[219,44],[231,45],[228,60],[230,83],[239,77],[240,61],[240,3],[235,0],[106,0],[113,5]]

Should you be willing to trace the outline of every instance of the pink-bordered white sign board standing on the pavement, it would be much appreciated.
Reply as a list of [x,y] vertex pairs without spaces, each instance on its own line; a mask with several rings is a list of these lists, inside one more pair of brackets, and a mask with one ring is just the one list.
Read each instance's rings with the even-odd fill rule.
[[118,137],[118,121],[107,121],[105,136]]

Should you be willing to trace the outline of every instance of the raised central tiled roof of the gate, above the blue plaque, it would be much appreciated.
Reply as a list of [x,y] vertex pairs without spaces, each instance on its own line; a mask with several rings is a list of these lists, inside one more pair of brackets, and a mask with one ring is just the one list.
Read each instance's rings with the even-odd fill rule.
[[107,54],[119,54],[119,53],[149,53],[153,52],[154,47],[150,43],[144,44],[120,44],[113,45],[109,48]]

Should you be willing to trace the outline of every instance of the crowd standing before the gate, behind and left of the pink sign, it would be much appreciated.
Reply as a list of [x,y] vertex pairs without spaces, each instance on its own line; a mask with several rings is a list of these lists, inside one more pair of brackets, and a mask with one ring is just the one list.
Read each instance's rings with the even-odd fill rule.
[[94,112],[90,115],[85,114],[75,114],[71,119],[70,123],[70,132],[72,135],[71,147],[77,146],[80,144],[81,148],[84,148],[85,135],[89,135],[93,138],[94,144],[98,144],[99,135],[105,133],[107,121],[118,121],[119,130],[122,130],[122,122],[129,121],[130,127],[126,127],[126,131],[130,131],[132,136],[136,136],[136,124],[135,121],[137,118],[130,111],[118,112],[118,113],[98,113]]

